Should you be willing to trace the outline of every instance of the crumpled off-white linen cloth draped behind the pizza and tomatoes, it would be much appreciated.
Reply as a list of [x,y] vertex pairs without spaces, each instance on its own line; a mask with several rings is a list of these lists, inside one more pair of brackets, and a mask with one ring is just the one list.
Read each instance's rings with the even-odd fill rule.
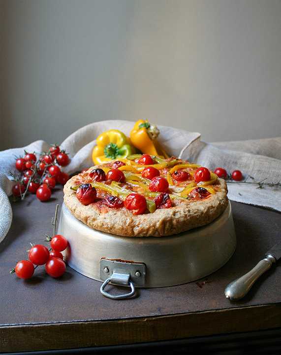
[[[108,129],[119,129],[129,135],[133,122],[123,120],[100,121],[80,128],[61,143],[71,158],[70,164],[62,171],[73,174],[93,165],[91,153],[95,138]],[[250,182],[264,180],[266,183],[281,181],[281,137],[244,142],[201,142],[200,134],[158,126],[158,137],[168,154],[206,166],[211,170],[223,167],[228,172],[241,170]],[[12,209],[8,199],[14,182],[8,178],[15,171],[15,156],[24,151],[37,154],[48,151],[50,144],[36,141],[22,148],[0,152],[0,242],[7,234],[12,222]],[[251,179],[252,177],[254,179]],[[263,206],[281,211],[281,188],[267,186],[257,189],[255,184],[229,183],[228,198],[234,201]],[[35,198],[34,196],[32,198]]]

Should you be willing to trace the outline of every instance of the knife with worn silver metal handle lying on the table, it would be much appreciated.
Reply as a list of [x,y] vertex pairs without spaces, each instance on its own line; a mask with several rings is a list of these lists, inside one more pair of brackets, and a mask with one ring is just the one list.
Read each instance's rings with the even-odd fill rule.
[[231,301],[243,298],[256,280],[271,268],[272,264],[281,258],[281,243],[277,243],[266,254],[265,258],[260,260],[256,266],[247,274],[243,275],[232,283],[228,284],[224,290],[224,295]]

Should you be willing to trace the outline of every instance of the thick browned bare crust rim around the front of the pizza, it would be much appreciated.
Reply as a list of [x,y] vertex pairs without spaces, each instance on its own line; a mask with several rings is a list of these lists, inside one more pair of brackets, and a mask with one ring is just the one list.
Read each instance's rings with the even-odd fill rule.
[[220,191],[206,199],[187,200],[170,209],[133,215],[125,207],[117,210],[99,203],[82,205],[75,191],[70,189],[76,180],[77,177],[70,178],[63,188],[64,203],[69,211],[90,228],[125,237],[169,236],[201,227],[216,219],[228,203],[226,182],[218,178]]

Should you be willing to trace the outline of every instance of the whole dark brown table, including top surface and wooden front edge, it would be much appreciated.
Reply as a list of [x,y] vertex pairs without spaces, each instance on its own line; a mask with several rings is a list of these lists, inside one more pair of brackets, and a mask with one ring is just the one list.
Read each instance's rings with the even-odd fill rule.
[[[205,280],[139,289],[138,296],[115,301],[103,297],[100,283],[67,268],[60,279],[38,267],[23,281],[9,269],[27,258],[30,242],[52,233],[55,205],[30,195],[12,203],[13,222],[0,244],[0,352],[99,347],[281,327],[281,267],[264,274],[239,302],[224,287],[250,270],[281,238],[281,214],[232,202],[237,249],[230,261]],[[67,237],[67,236],[66,236]],[[110,288],[110,286],[108,286]]]

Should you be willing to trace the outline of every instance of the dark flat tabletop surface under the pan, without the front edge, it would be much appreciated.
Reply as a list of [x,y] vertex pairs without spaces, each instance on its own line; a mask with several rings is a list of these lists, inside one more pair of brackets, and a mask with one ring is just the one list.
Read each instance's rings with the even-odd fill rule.
[[57,189],[52,196],[46,203],[33,195],[23,202],[11,202],[12,226],[0,244],[0,327],[124,320],[281,302],[280,263],[264,274],[243,300],[229,302],[224,296],[225,286],[249,271],[281,239],[280,213],[236,202],[231,204],[237,249],[225,266],[199,282],[139,289],[137,297],[115,301],[100,294],[100,282],[69,267],[60,279],[52,279],[39,266],[31,280],[20,280],[15,274],[10,275],[9,269],[27,258],[30,242],[44,244],[45,234],[52,234],[51,219],[56,204],[62,203],[62,189]]

